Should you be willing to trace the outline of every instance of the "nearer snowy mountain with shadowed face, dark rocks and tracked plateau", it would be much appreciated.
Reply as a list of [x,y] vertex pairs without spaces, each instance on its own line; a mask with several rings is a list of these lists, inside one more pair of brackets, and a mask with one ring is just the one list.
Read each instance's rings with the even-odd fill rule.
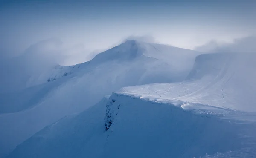
[[129,86],[8,158],[241,158],[256,154],[255,54],[198,55],[182,82]]

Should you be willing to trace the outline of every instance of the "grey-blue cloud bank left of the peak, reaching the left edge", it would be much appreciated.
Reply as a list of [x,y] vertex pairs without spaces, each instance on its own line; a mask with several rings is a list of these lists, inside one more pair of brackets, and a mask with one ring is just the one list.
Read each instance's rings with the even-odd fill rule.
[[25,88],[26,81],[30,77],[39,77],[57,64],[74,65],[86,62],[91,57],[91,52],[82,44],[65,48],[63,42],[57,38],[34,43],[17,57],[9,57],[7,53],[1,51],[0,92]]

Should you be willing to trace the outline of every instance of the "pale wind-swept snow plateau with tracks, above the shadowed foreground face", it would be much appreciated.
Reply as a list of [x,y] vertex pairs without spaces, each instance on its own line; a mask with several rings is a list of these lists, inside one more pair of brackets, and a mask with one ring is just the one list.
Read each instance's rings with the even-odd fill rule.
[[256,112],[256,54],[199,55],[187,79],[180,83],[160,83],[125,87],[123,92],[141,97],[175,99],[209,106]]

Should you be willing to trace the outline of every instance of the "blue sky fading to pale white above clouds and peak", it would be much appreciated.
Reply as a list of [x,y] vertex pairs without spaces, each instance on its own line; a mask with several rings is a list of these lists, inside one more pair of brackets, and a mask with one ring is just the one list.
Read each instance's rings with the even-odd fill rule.
[[106,49],[131,35],[193,49],[255,34],[255,8],[254,0],[0,0],[0,50],[52,37]]

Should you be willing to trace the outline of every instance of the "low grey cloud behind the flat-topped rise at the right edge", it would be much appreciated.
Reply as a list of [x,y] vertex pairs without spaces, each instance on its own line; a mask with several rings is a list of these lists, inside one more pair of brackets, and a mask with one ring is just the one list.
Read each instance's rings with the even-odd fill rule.
[[256,36],[235,39],[232,43],[221,43],[211,40],[195,50],[201,52],[256,53]]

